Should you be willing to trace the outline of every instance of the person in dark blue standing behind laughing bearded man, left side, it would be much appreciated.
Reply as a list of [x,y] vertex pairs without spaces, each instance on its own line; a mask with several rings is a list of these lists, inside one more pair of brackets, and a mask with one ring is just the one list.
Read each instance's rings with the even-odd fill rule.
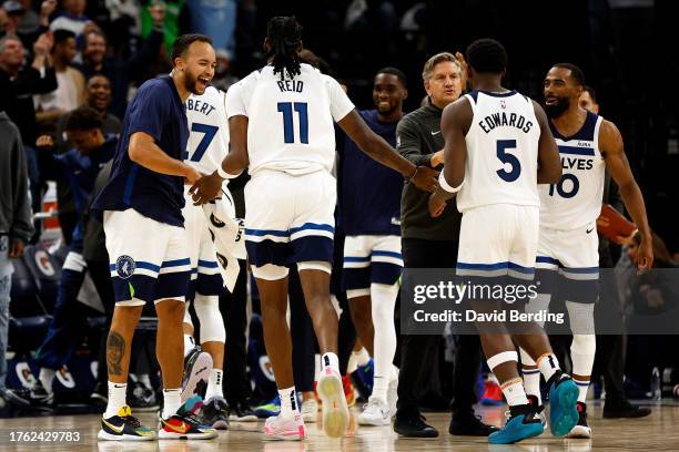
[[[89,205],[94,181],[100,170],[109,162],[115,152],[118,137],[107,137],[102,132],[99,113],[89,106],[81,106],[68,116],[65,131],[69,140],[75,146],[67,154],[54,155],[53,141],[43,135],[38,138],[41,155],[50,160],[45,168],[53,170],[50,178],[65,178],[71,184],[75,209],[82,215]],[[54,312],[47,338],[36,352],[40,366],[39,382],[36,392],[41,394],[37,404],[53,403],[52,380],[57,370],[67,363],[78,340],[79,326],[84,322],[82,311],[78,306],[78,292],[84,279],[87,264],[83,253],[83,226],[79,224],[73,232],[69,254],[63,264]],[[32,399],[32,398],[31,398]]]

